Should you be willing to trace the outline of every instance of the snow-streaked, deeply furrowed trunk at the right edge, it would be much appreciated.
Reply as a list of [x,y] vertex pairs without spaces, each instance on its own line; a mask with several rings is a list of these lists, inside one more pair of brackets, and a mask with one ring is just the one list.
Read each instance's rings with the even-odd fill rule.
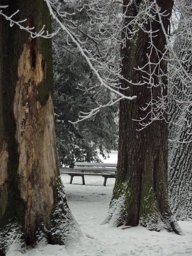
[[[168,98],[168,193],[178,220],[192,219],[192,4],[182,2],[172,61]],[[187,77],[187,75],[189,77]]]

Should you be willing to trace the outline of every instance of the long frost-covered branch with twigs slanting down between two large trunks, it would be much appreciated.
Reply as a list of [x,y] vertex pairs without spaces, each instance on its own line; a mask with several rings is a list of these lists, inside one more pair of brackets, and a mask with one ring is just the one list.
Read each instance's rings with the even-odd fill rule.
[[[111,42],[111,38],[109,34],[105,35],[106,31],[105,29],[103,30],[104,32],[104,37],[102,37],[100,34],[101,28],[100,27],[100,20],[104,22],[105,25],[114,26],[114,24],[107,24],[106,21],[104,21],[103,17],[102,19],[100,17],[97,17],[97,15],[101,15],[101,13],[104,12],[111,4],[105,8],[103,6],[100,8],[98,6],[99,2],[101,1],[88,1],[88,2],[81,2],[80,4],[76,1],[77,9],[76,12],[72,11],[70,14],[69,12],[67,13],[65,10],[67,8],[63,8],[58,2],[52,2],[49,0],[45,0],[50,13],[52,17],[54,18],[56,24],[65,32],[66,35],[66,42],[65,46],[68,47],[69,51],[78,51],[81,56],[87,61],[89,64],[91,70],[94,72],[98,79],[99,87],[100,88],[106,88],[109,91],[115,93],[118,95],[118,100],[112,100],[109,103],[104,104],[103,106],[110,106],[111,104],[115,104],[122,98],[126,98],[129,100],[135,99],[135,96],[125,96],[119,91],[119,78],[120,78],[120,70],[119,70],[119,62],[115,62],[114,58],[116,58],[116,55],[111,53],[110,51],[112,50],[109,45],[105,44],[105,48],[102,49],[103,44],[102,42],[106,39]],[[68,1],[64,1],[66,6],[68,7]],[[112,1],[113,3],[116,3],[115,1]],[[73,2],[75,3],[75,1]],[[89,4],[86,4],[89,3]],[[73,6],[73,4],[71,4]],[[87,15],[87,19],[90,24],[90,31],[89,34],[85,31],[82,30],[81,28],[77,27],[75,22],[71,19],[71,16],[74,15],[74,13],[77,12],[82,12],[84,11],[85,14]],[[99,22],[98,22],[99,20]],[[97,25],[96,25],[97,24]],[[92,29],[98,29],[98,32],[96,35],[93,35]],[[114,30],[113,30],[114,32]],[[118,32],[119,33],[119,32]],[[117,36],[118,37],[118,36]],[[94,44],[94,45],[93,45]],[[102,47],[99,47],[99,46]],[[97,87],[97,85],[96,85]],[[89,90],[89,89],[88,89]],[[113,103],[112,103],[113,102]],[[98,103],[99,104],[99,103]],[[102,107],[103,107],[102,106]],[[86,116],[81,116],[81,120],[84,120],[85,118],[89,118],[92,115],[95,115],[99,110],[101,109],[101,105],[93,110],[91,110],[89,113],[86,113]],[[83,113],[85,114],[85,113]]]

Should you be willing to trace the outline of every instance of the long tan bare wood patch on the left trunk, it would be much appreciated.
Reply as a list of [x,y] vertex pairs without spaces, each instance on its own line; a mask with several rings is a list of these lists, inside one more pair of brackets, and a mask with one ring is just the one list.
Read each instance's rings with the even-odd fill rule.
[[18,61],[14,97],[16,140],[18,142],[20,195],[26,202],[26,237],[31,238],[37,220],[50,228],[53,207],[51,180],[58,172],[55,147],[52,95],[46,104],[39,101],[39,85],[46,78],[46,62],[36,39],[29,38]]

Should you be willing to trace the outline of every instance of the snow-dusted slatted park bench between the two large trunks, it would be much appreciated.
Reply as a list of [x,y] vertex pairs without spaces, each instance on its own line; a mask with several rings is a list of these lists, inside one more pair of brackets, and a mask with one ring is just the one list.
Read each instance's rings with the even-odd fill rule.
[[82,177],[82,184],[84,185],[84,175],[102,176],[104,178],[103,186],[106,186],[108,178],[116,178],[117,164],[116,163],[86,163],[76,162],[72,172],[62,172],[61,174],[68,174],[71,176],[70,184],[72,184],[74,176]]

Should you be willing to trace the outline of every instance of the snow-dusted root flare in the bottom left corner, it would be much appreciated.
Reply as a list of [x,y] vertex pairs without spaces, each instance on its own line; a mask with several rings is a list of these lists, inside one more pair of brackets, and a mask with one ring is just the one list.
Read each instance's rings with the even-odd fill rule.
[[10,220],[0,232],[0,255],[5,255],[11,251],[24,253],[26,244],[22,227],[16,220]]

